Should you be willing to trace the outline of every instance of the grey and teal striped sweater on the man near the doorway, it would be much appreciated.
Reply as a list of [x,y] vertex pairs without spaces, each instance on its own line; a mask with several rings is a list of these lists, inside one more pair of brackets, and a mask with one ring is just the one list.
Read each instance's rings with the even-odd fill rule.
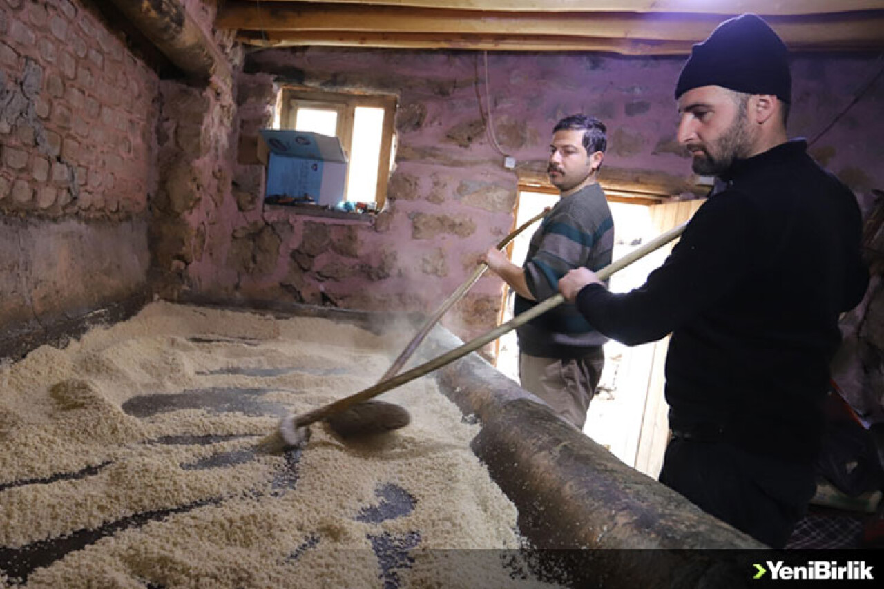
[[[525,281],[531,295],[544,301],[559,292],[559,279],[572,268],[592,271],[611,263],[613,219],[598,184],[583,187],[556,203],[531,237],[525,257]],[[515,296],[519,315],[537,304]],[[607,341],[565,302],[516,330],[519,348],[530,356],[575,358]]]

